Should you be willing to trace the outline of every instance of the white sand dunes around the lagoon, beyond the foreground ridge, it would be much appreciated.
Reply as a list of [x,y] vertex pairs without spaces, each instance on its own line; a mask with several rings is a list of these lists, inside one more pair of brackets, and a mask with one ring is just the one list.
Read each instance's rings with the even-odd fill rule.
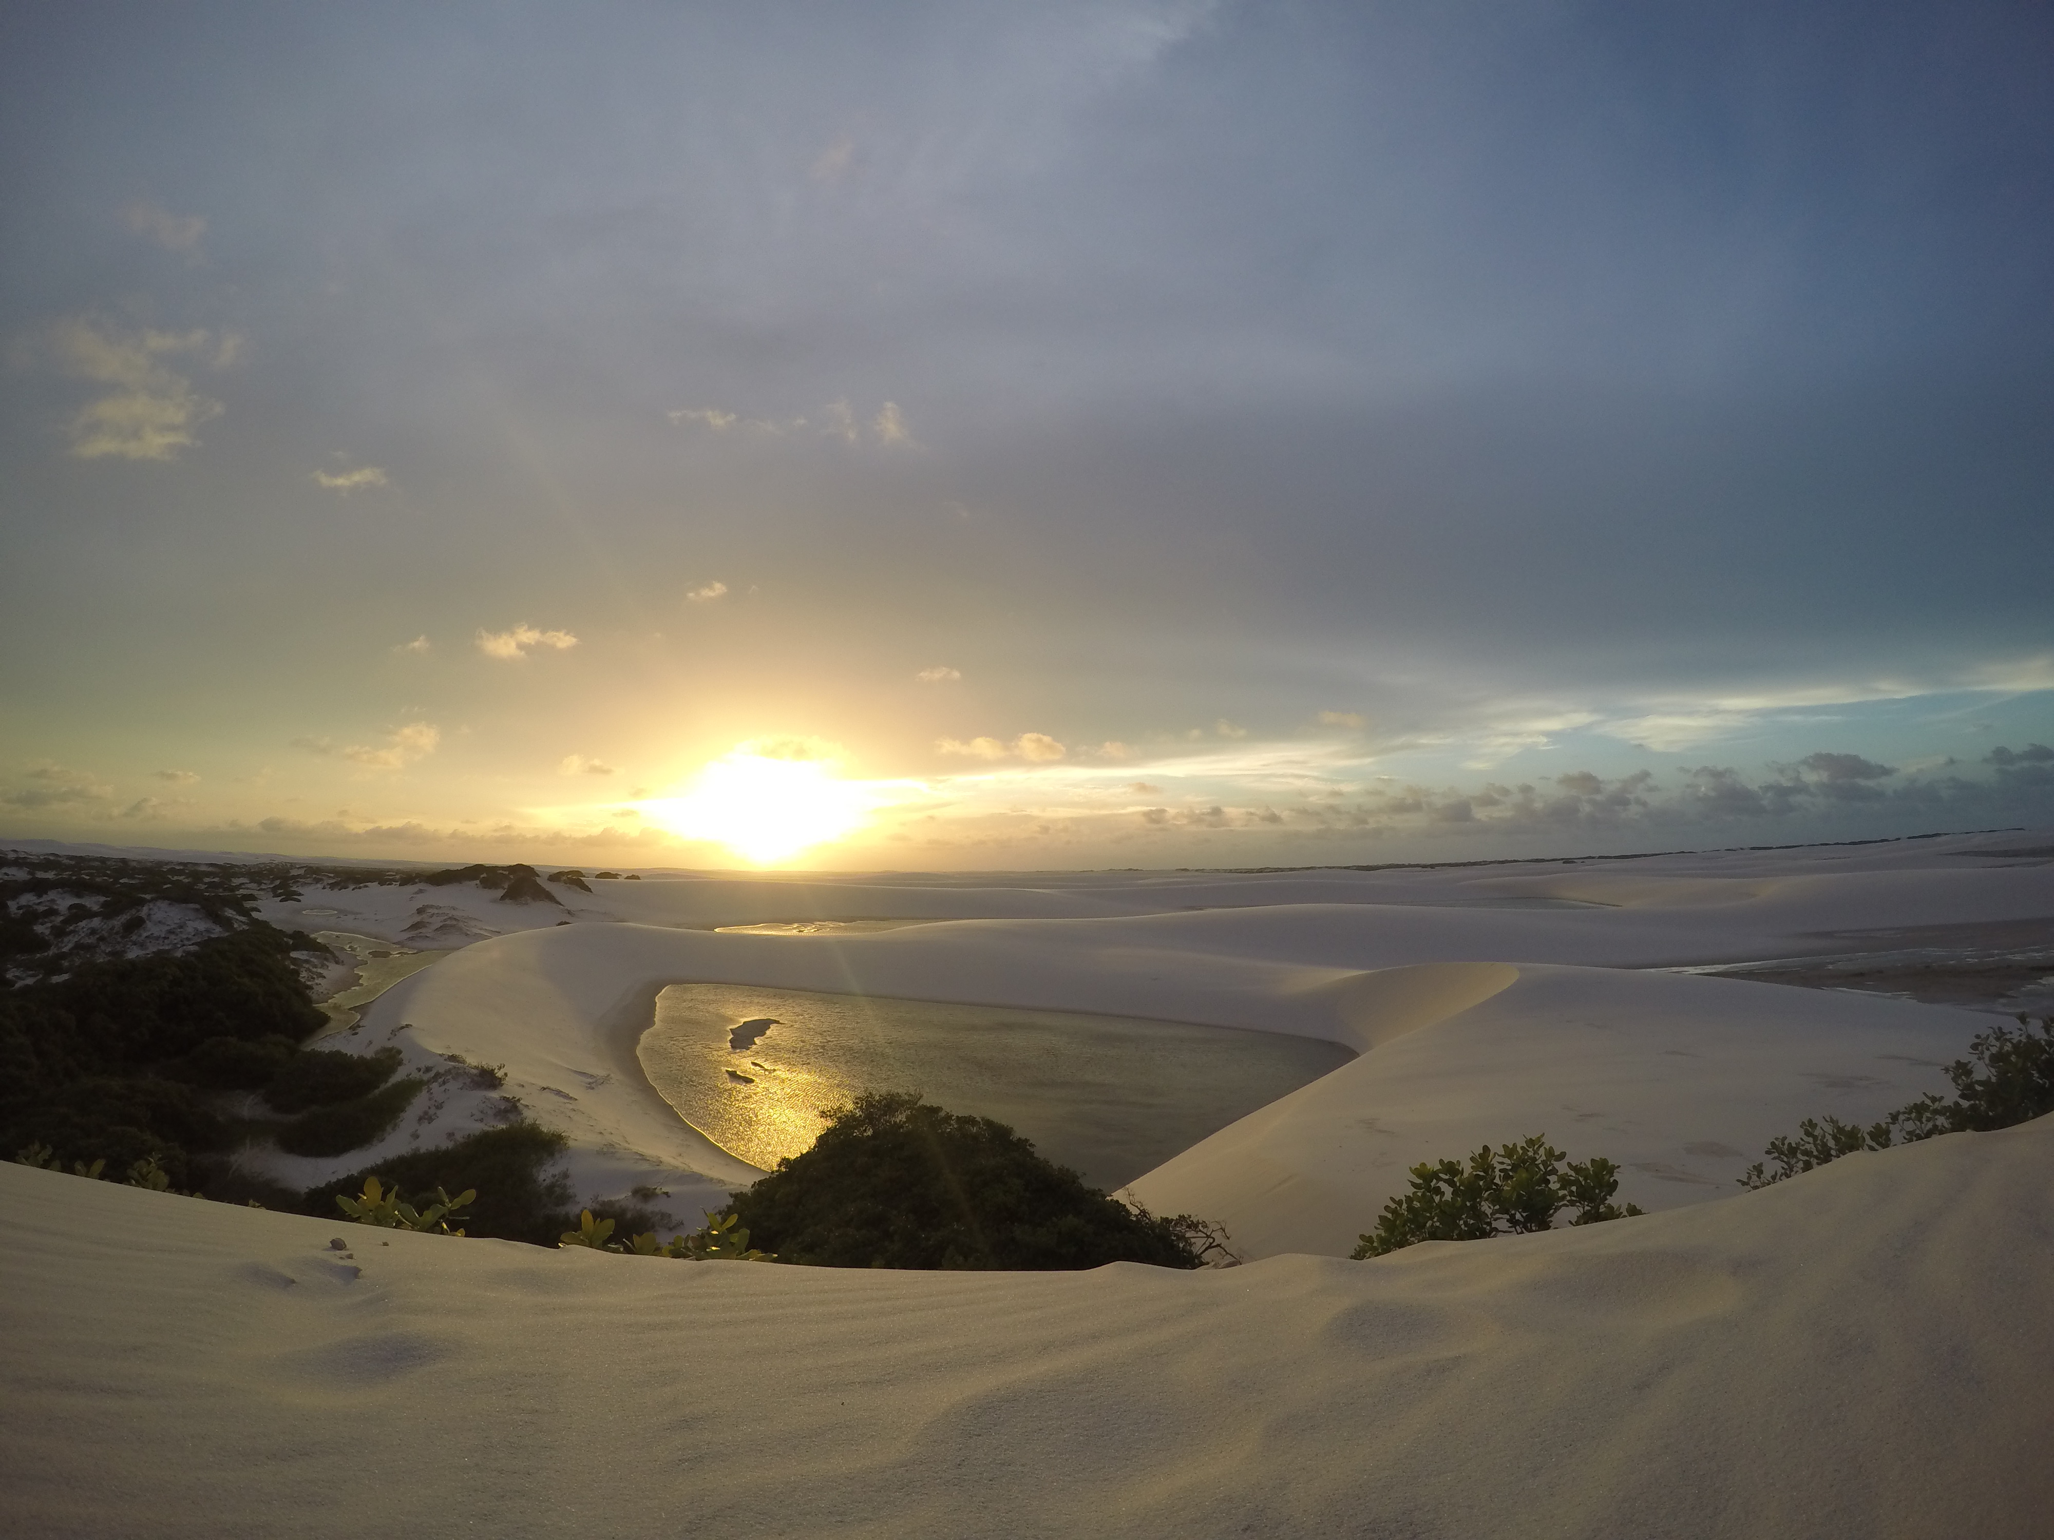
[[[1974,840],[1939,844],[1551,869],[1087,875],[1023,887],[920,877],[598,883],[610,914],[637,922],[550,922],[466,947],[374,1002],[351,1041],[396,1041],[411,1066],[431,1066],[435,1053],[505,1064],[507,1090],[571,1138],[581,1201],[663,1187],[668,1211],[696,1224],[756,1172],[686,1127],[635,1060],[665,984],[1156,1016],[1358,1051],[1434,1027],[1134,1183],[1152,1207],[1226,1222],[1249,1255],[1345,1255],[1407,1166],[1477,1144],[1545,1131],[1575,1158],[1619,1160],[1625,1197],[1662,1209],[1734,1191],[1764,1142],[1801,1117],[1875,1119],[1943,1088],[1939,1066],[1986,1016],[1621,971],[1836,953],[1851,932],[2054,916],[2054,862],[1992,862],[1966,854]],[[1315,897],[1329,901],[1306,901]],[[1497,908],[1534,897],[1602,897],[1602,908]],[[491,903],[479,895],[483,912]],[[1078,906],[1101,912],[1019,918]],[[1115,908],[1156,912],[1103,912]],[[1000,918],[840,936],[705,928],[949,912]],[[1456,965],[1421,977],[1495,984],[1434,986],[1413,1000],[1417,981],[1376,981],[1421,963]],[[1571,975],[1561,965],[1584,967]],[[1501,1000],[1469,1010],[1514,979]],[[454,1092],[372,1152],[273,1164],[279,1179],[310,1185],[470,1131],[487,1111]]]

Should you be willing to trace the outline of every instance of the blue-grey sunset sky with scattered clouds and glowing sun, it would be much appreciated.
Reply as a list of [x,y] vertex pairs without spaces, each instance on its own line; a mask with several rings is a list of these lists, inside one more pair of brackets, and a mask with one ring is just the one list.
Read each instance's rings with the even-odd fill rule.
[[2054,12],[0,12],[0,836],[2054,823]]

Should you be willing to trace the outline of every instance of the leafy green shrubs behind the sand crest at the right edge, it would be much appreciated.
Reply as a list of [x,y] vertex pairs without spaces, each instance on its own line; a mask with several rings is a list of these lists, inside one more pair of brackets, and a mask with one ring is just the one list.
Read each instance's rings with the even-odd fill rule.
[[1808,1117],[1797,1133],[1771,1140],[1768,1162],[1748,1166],[1740,1185],[1773,1187],[1863,1150],[1916,1144],[1937,1133],[1986,1133],[2054,1113],[2054,1016],[2042,1016],[2038,1031],[2023,1012],[2017,1023],[1978,1033],[1968,1057],[1947,1066],[1951,1099],[1929,1092],[1867,1127]]

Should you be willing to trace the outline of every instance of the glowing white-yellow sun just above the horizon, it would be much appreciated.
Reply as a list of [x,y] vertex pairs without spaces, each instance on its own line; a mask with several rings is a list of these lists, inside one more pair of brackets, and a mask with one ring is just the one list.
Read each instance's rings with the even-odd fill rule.
[[863,788],[832,758],[793,758],[739,743],[678,797],[639,803],[643,817],[686,840],[713,840],[758,867],[840,840],[863,821]]

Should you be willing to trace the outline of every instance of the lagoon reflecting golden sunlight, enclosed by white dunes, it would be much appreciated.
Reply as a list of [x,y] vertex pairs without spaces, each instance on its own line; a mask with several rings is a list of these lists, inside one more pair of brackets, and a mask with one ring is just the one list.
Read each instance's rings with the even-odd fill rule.
[[1354,1057],[1234,1027],[735,984],[663,990],[637,1055],[686,1123],[766,1170],[857,1092],[918,1090],[1107,1191]]

